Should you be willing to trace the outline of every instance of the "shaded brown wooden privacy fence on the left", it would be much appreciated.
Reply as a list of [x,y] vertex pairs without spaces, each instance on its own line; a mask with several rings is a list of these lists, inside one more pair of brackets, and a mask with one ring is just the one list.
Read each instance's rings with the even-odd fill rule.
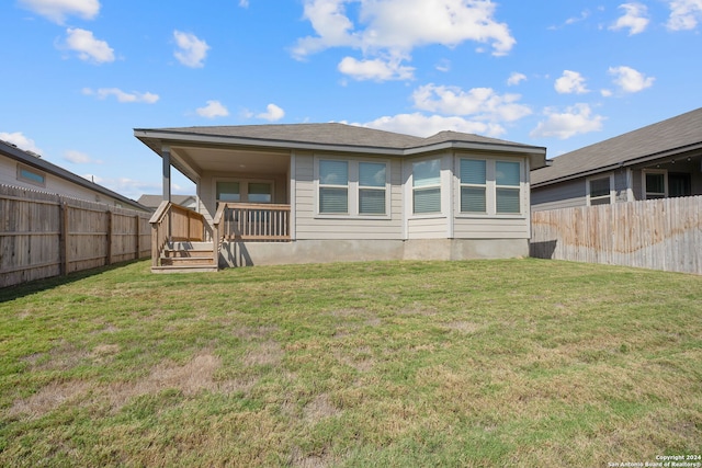
[[148,258],[149,217],[0,185],[0,287]]

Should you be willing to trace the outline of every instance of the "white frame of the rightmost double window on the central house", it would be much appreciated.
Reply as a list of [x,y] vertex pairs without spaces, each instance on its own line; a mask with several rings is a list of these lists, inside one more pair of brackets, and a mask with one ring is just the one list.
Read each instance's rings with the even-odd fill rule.
[[[463,186],[483,186],[475,184],[461,183],[461,160],[471,159],[485,161],[485,213],[479,212],[462,212],[461,210],[461,187]],[[497,213],[497,190],[498,189],[518,189],[516,185],[498,185],[497,184],[497,162],[516,162],[519,163],[519,213]],[[477,155],[456,155],[454,162],[454,210],[456,218],[512,218],[523,219],[528,215],[526,208],[526,175],[523,159],[510,158],[488,158]]]

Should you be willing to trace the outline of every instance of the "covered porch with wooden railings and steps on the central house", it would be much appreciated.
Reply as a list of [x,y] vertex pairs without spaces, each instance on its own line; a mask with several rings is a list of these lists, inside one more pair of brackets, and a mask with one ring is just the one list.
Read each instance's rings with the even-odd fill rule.
[[[158,144],[163,199],[150,219],[151,271],[216,271],[225,243],[294,239],[290,150]],[[171,202],[173,168],[195,183],[195,209]]]

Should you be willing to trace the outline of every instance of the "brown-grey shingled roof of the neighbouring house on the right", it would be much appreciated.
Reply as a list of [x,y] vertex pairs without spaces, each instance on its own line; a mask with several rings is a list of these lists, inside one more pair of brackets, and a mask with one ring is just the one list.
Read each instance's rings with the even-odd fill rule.
[[702,107],[558,156],[531,173],[532,187],[702,148]]

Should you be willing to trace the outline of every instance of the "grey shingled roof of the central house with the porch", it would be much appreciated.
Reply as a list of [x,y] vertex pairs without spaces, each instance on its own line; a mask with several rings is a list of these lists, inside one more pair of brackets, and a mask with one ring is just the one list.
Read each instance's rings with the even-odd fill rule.
[[[328,124],[285,124],[285,125],[239,125],[239,126],[213,126],[213,127],[180,127],[146,129],[135,128],[137,138],[160,153],[154,140],[201,140],[203,142],[220,144],[249,144],[263,147],[294,147],[319,148],[333,147],[337,149],[353,148],[356,151],[364,149],[382,149],[397,155],[412,155],[434,149],[438,146],[454,147],[480,147],[513,150],[535,155],[545,155],[546,149],[513,141],[488,138],[479,135],[458,132],[441,132],[429,138],[393,132],[377,130],[373,128],[347,125],[340,123]],[[438,148],[437,148],[438,149]]]

